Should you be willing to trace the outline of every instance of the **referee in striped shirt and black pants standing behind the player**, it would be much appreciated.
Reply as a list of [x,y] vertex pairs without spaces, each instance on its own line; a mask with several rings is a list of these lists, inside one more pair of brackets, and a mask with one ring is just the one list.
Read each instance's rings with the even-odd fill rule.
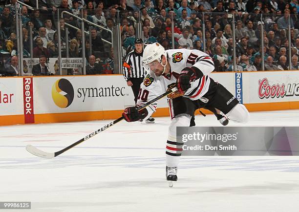
[[[135,49],[128,53],[123,64],[123,73],[127,85],[130,86],[134,93],[134,101],[137,103],[137,98],[140,90],[140,84],[143,82],[147,72],[142,66],[143,42],[142,39],[135,39]],[[154,118],[149,117],[147,123],[154,123]]]

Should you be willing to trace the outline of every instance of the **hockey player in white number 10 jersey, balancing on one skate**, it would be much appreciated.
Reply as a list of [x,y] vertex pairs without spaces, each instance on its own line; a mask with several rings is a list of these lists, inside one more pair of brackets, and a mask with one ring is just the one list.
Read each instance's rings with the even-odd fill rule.
[[[166,178],[172,186],[177,181],[177,166],[183,143],[176,141],[176,127],[194,126],[191,123],[197,108],[216,108],[229,120],[246,123],[249,112],[223,85],[207,74],[214,70],[212,58],[199,50],[171,49],[165,51],[159,43],[144,49],[143,65],[149,74],[141,84],[137,106],[166,92],[170,87],[178,90],[169,95],[171,125],[166,144]],[[123,116],[128,122],[147,119],[156,104],[137,111],[127,107]]]

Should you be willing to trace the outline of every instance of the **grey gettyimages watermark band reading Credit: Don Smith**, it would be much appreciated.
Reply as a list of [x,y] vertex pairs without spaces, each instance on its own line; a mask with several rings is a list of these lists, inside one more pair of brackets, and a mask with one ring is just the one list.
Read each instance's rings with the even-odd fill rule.
[[182,155],[299,155],[299,127],[177,127]]

